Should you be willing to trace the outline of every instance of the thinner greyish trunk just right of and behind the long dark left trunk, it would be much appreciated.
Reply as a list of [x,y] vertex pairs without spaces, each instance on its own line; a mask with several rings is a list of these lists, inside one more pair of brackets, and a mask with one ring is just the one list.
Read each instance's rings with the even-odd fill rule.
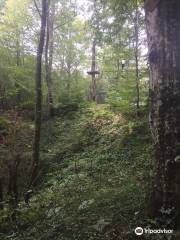
[[48,112],[49,116],[53,116],[53,93],[52,93],[52,61],[54,47],[54,15],[55,3],[52,2],[51,8],[48,2],[47,13],[47,31],[46,31],[46,46],[45,46],[45,67],[46,67],[46,83],[48,88]]

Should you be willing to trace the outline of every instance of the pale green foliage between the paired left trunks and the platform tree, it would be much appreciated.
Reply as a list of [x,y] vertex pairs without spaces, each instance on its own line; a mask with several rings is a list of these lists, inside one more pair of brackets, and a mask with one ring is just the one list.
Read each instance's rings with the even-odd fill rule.
[[54,32],[53,84],[56,91],[53,93],[54,100],[67,103],[85,97],[88,79],[83,72],[87,67],[87,51],[84,49],[89,47],[89,39],[84,22],[73,15],[73,7],[70,4],[66,6],[67,2],[63,4],[63,14],[56,11],[55,18],[55,26],[60,27],[55,27]]

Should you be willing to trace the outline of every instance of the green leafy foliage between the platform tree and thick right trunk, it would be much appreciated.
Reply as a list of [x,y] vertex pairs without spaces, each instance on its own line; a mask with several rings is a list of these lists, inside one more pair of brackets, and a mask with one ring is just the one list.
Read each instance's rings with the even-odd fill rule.
[[[101,39],[98,45],[103,44],[101,56],[98,56],[103,72],[100,81],[106,79],[104,88],[109,90],[108,102],[111,105],[121,111],[136,111],[138,115],[147,99],[147,89],[143,86],[147,83],[142,51],[145,46],[142,3],[138,0],[97,3],[99,28],[95,17],[91,25],[97,38]],[[146,97],[143,90],[146,91]]]

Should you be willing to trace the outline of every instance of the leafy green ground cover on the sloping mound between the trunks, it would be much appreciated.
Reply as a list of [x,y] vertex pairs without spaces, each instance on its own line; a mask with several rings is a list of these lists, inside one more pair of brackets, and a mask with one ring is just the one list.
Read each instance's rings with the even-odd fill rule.
[[152,174],[148,129],[146,117],[127,119],[107,105],[44,122],[43,176],[29,207],[4,210],[0,239],[135,239]]

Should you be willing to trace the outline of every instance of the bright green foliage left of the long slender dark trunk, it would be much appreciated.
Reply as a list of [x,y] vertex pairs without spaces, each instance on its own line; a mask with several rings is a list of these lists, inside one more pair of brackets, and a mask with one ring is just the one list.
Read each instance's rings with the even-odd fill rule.
[[[30,0],[7,0],[0,15],[0,95],[4,109],[33,104],[34,42]],[[31,30],[30,30],[31,29]],[[31,61],[29,61],[31,59]]]

